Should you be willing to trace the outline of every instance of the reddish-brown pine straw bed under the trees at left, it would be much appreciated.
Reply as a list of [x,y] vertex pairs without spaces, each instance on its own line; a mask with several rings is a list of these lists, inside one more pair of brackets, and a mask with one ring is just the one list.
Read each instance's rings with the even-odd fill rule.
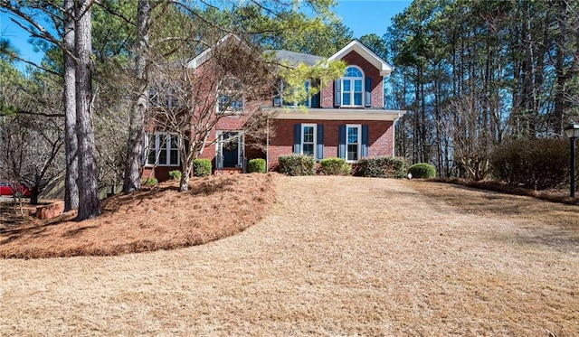
[[220,175],[160,183],[101,203],[95,220],[75,212],[50,220],[0,221],[0,257],[113,256],[203,244],[239,233],[264,216],[273,201],[272,174]]

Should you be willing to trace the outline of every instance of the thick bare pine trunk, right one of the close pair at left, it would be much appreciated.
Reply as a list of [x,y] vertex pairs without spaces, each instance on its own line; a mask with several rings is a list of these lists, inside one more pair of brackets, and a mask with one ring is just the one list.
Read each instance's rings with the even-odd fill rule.
[[95,160],[94,132],[92,129],[92,60],[90,0],[75,4],[75,56],[76,64],[76,126],[78,140],[79,214],[77,220],[100,215],[97,163]]

